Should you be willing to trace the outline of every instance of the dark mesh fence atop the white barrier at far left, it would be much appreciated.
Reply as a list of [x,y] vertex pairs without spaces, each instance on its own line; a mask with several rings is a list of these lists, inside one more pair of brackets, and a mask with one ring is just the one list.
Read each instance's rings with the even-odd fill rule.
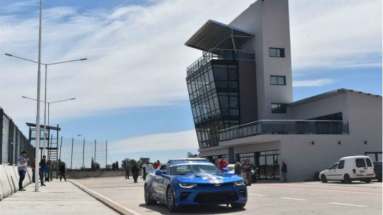
[[0,108],[0,164],[17,164],[17,158],[22,151],[26,151],[31,160],[34,159],[34,147]]

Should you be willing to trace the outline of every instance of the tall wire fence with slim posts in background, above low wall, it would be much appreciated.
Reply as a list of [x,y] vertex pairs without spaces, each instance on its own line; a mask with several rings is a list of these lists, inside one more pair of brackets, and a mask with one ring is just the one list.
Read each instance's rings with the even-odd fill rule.
[[95,169],[107,165],[108,141],[86,140],[61,137],[59,139],[59,156],[68,169]]

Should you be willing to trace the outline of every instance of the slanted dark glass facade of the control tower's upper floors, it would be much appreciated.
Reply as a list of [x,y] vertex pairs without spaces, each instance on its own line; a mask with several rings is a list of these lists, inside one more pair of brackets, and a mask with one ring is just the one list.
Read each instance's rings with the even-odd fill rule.
[[218,131],[239,124],[238,63],[211,60],[187,84],[199,148],[217,146]]

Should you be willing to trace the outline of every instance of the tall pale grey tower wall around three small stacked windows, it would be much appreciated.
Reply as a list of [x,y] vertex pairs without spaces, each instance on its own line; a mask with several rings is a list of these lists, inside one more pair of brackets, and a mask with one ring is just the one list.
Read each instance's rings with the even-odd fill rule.
[[[258,0],[230,25],[255,34],[244,49],[255,50],[258,119],[288,118],[271,113],[271,103],[293,101],[288,0]],[[269,47],[284,48],[285,57],[269,57]],[[286,86],[270,85],[271,75],[285,76]]]

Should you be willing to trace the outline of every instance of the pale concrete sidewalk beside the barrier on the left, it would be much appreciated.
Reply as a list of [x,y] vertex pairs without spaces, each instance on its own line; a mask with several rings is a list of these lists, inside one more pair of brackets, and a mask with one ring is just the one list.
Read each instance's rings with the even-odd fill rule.
[[1,215],[117,215],[115,211],[80,190],[72,183],[46,182],[34,192],[34,183],[24,192],[0,201]]

